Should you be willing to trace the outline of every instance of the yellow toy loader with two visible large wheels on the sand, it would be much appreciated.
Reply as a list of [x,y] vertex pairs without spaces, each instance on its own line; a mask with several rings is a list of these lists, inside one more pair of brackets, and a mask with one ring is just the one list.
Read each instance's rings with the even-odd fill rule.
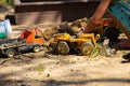
[[70,51],[80,49],[82,55],[91,55],[96,47],[96,41],[100,39],[98,34],[82,33],[80,35],[70,35],[68,33],[57,33],[53,35],[51,43],[52,51],[58,54],[67,55]]

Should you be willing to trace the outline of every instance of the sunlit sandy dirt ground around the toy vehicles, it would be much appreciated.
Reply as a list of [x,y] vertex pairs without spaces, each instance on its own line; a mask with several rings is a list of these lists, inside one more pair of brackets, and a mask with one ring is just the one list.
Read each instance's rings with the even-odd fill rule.
[[[12,38],[27,27],[46,29],[49,26],[12,26]],[[130,51],[117,51],[110,57],[95,54],[66,56],[44,48],[40,53],[24,53],[14,58],[0,56],[0,86],[129,86],[130,61],[122,58]]]

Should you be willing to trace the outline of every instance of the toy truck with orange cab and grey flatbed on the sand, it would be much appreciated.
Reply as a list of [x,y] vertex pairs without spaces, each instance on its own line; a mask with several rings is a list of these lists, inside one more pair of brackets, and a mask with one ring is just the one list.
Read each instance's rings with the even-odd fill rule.
[[25,49],[31,49],[37,53],[43,45],[42,34],[40,29],[26,29],[17,39],[0,41],[0,52],[6,57],[13,57]]

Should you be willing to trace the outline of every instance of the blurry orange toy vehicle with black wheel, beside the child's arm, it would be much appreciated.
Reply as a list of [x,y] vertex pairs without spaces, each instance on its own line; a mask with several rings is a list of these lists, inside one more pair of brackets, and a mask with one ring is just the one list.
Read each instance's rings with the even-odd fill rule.
[[[109,41],[116,41],[119,37],[119,29],[117,23],[115,23],[112,18],[102,18],[95,33],[101,34],[101,39],[109,39]],[[112,37],[113,35],[113,37]]]

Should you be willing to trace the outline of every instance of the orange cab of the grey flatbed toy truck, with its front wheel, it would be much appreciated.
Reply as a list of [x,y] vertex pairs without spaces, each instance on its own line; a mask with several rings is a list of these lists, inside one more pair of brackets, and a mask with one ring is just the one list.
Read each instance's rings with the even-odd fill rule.
[[21,38],[26,40],[26,45],[29,45],[32,51],[39,52],[40,47],[43,45],[43,33],[40,29],[26,29]]

